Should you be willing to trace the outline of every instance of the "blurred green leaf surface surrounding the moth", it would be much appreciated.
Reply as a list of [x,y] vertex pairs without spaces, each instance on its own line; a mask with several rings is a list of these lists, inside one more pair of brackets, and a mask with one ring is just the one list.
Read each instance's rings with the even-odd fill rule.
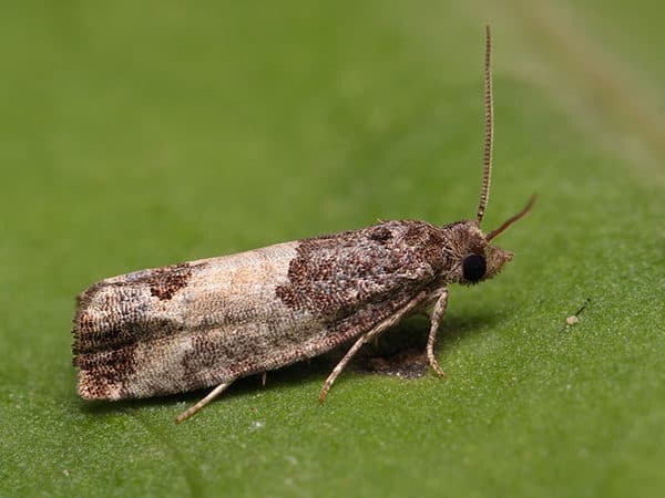
[[[665,489],[662,2],[16,2],[0,15],[1,496],[641,496]],[[331,362],[78,398],[74,295],[131,270],[532,193],[415,381]],[[580,323],[561,332],[586,298]],[[413,319],[390,341],[422,338]]]

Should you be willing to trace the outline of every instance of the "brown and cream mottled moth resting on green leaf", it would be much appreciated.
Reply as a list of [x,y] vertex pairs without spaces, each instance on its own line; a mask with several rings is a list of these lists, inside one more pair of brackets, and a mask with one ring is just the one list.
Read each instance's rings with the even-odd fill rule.
[[436,226],[381,221],[369,228],[278,243],[237,255],[134,271],[78,297],[73,364],[85,400],[124,400],[214,386],[190,417],[235,380],[351,344],[320,391],[360,350],[403,318],[427,312],[429,364],[448,287],[490,279],[512,259],[491,241],[522,218],[534,197],[483,234],[492,159],[491,37],[485,32],[485,141],[474,219]]

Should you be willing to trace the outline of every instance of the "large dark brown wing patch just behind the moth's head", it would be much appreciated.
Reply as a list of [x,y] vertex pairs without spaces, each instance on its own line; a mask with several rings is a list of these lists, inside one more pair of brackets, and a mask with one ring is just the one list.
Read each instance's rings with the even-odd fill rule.
[[443,264],[443,243],[440,228],[411,220],[305,239],[289,264],[289,283],[276,294],[338,326],[361,308],[380,309],[427,287]]

